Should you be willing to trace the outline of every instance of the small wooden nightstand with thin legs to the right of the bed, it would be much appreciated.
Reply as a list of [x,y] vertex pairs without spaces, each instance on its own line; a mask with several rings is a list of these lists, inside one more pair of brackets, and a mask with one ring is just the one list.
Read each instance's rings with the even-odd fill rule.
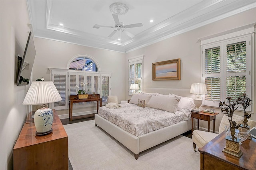
[[199,130],[199,120],[208,121],[208,132],[210,132],[210,123],[213,120],[213,132],[215,132],[215,118],[219,113],[204,113],[200,111],[199,113],[191,112],[191,121],[192,121],[192,132],[194,130],[194,118],[197,120],[197,130]]

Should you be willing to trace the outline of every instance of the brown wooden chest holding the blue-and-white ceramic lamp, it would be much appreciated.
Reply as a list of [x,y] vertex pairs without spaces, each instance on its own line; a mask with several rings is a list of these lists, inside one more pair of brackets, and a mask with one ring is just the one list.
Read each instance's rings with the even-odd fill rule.
[[14,170],[68,170],[68,135],[53,112],[50,134],[36,136],[34,123],[24,124],[13,149]]

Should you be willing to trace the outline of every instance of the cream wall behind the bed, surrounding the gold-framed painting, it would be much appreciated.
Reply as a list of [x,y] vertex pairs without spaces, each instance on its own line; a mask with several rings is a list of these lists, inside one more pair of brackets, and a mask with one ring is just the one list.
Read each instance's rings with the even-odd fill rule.
[[[242,12],[235,16],[225,18],[223,20],[202,26],[198,29],[168,38],[161,42],[154,43],[147,47],[131,51],[126,54],[126,64],[128,58],[145,55],[144,57],[144,88],[159,87],[159,88],[182,88],[190,89],[191,83],[201,82],[201,49],[200,38],[211,36],[220,32],[245,26],[256,22],[256,8]],[[255,41],[256,42],[256,41]],[[255,46],[255,45],[254,45]],[[255,47],[256,49],[256,47]],[[255,58],[255,54],[253,56]],[[152,81],[152,63],[158,61],[166,61],[170,59],[181,59],[181,80],[168,81]],[[254,65],[256,61],[254,60]],[[126,69],[128,72],[128,68]],[[128,88],[128,75],[126,76],[126,88]],[[254,74],[254,79],[256,76]],[[255,83],[253,84],[255,86]],[[256,90],[256,89],[255,89]],[[126,97],[128,93],[126,93]],[[254,93],[254,111],[256,111],[256,95]],[[216,118],[216,130],[220,125],[222,114],[219,108],[215,108],[220,114]],[[243,115],[237,112],[238,115]],[[251,119],[256,120],[256,113],[252,114]],[[202,123],[201,123],[202,122]],[[211,129],[212,129],[211,123]],[[207,128],[208,124],[205,121],[200,121],[200,126]]]

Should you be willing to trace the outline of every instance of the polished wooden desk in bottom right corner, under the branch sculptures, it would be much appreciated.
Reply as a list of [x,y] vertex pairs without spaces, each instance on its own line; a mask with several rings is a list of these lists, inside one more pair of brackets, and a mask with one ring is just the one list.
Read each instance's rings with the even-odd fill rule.
[[225,170],[255,170],[256,169],[256,139],[245,140],[240,144],[243,154],[240,158],[222,152],[226,146],[226,132],[208,142],[200,152],[200,170],[225,169]]

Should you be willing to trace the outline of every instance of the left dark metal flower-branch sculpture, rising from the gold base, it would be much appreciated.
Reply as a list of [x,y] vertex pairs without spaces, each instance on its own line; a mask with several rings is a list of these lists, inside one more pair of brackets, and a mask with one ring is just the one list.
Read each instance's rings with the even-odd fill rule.
[[238,129],[240,127],[240,124],[236,126],[236,122],[235,121],[232,121],[232,117],[233,117],[233,113],[234,111],[238,108],[236,107],[237,103],[236,102],[231,102],[231,97],[227,97],[227,100],[228,100],[228,105],[225,103],[225,101],[222,103],[220,101],[220,104],[219,104],[219,107],[221,107],[221,113],[223,114],[227,114],[230,119],[229,120],[229,123],[230,123],[230,132],[231,132],[231,136],[232,136],[232,140],[236,139],[236,132],[235,130]]

